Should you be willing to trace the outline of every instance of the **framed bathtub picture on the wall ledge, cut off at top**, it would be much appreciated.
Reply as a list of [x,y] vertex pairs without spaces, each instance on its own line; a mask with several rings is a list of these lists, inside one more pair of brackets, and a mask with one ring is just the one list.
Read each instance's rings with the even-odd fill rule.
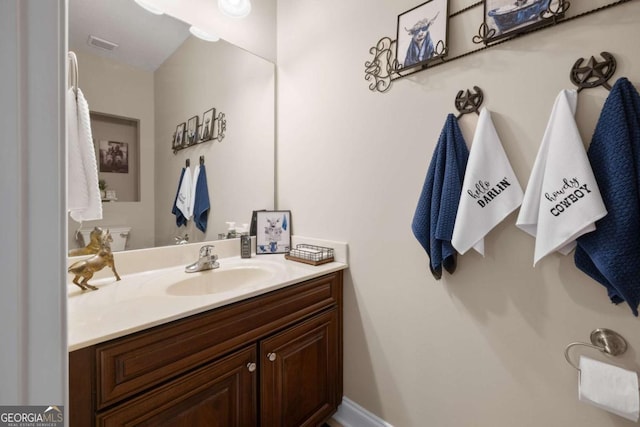
[[[545,25],[542,12],[557,0],[485,0],[484,23],[489,33],[486,41],[496,41],[531,31]],[[492,31],[493,30],[493,31]]]

